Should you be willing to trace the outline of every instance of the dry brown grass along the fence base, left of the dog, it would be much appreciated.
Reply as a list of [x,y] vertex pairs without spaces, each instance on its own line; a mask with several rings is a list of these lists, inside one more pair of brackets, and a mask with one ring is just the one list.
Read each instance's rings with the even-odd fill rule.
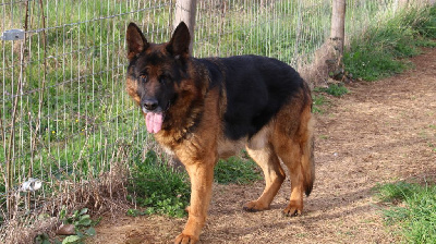
[[[101,173],[97,179],[82,182],[62,181],[59,192],[44,199],[41,206],[32,213],[17,212],[0,228],[1,240],[5,244],[34,243],[37,235],[46,233],[55,236],[55,231],[61,223],[59,212],[62,207],[72,212],[75,209],[88,208],[90,215],[102,215],[128,209],[126,183],[129,169],[125,160],[128,151],[120,147],[113,152],[109,172]],[[25,217],[26,216],[26,217]]]

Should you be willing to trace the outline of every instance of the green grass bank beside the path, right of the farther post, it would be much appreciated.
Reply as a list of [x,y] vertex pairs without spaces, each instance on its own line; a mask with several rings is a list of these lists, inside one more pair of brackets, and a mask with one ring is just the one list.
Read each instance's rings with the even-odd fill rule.
[[343,54],[346,72],[356,78],[376,81],[410,68],[404,58],[420,54],[420,46],[436,46],[432,40],[436,35],[435,9],[411,8],[393,17],[375,19],[362,35],[351,38]]

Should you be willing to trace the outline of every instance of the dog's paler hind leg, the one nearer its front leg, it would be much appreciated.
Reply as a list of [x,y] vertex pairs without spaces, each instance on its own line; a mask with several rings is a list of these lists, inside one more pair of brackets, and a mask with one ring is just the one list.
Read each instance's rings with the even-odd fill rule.
[[281,183],[283,183],[286,174],[270,144],[261,149],[251,149],[247,146],[246,150],[264,171],[266,185],[261,197],[257,200],[246,203],[244,210],[261,211],[269,209],[269,205],[279,191]]

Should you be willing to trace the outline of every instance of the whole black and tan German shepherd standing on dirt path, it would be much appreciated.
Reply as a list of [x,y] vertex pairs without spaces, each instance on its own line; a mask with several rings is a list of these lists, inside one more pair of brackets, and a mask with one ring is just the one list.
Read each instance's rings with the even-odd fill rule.
[[312,97],[298,72],[276,59],[258,56],[196,59],[190,56],[190,32],[182,22],[169,42],[150,44],[131,23],[126,30],[126,90],[144,113],[147,131],[185,167],[191,179],[186,225],[174,243],[195,243],[205,224],[214,167],[219,158],[245,148],[262,168],[266,186],[243,209],[268,209],[291,179],[286,216],[303,210],[312,192]]

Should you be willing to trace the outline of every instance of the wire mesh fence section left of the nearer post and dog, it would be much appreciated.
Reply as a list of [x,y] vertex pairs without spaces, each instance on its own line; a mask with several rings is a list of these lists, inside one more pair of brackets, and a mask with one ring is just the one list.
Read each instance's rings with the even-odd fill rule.
[[[124,29],[146,23],[160,41],[172,9],[166,1],[2,3],[1,29],[24,37],[1,46],[1,220],[98,179],[120,147],[141,152],[149,139],[124,94]],[[32,179],[38,191],[23,187]]]

